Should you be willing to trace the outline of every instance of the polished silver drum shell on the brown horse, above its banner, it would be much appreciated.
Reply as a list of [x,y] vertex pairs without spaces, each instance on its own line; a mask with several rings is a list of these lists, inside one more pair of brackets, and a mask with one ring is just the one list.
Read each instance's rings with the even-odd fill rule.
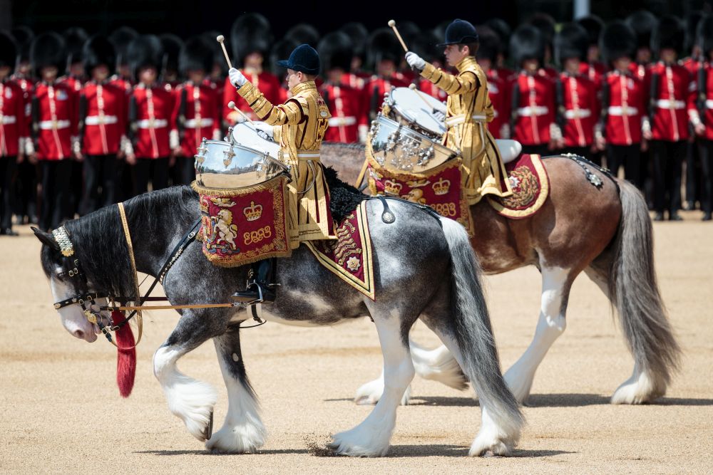
[[374,160],[394,173],[426,172],[457,155],[430,137],[381,114],[371,122],[369,143]]

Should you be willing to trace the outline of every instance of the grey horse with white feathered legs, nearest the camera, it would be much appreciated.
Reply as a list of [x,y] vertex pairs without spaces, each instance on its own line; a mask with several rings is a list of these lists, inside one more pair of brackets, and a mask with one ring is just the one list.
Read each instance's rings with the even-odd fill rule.
[[[338,454],[384,456],[396,422],[396,408],[414,377],[409,329],[416,319],[433,330],[456,357],[473,384],[481,405],[480,432],[469,454],[510,454],[518,443],[523,416],[503,380],[490,318],[480,282],[480,268],[463,227],[439,219],[405,202],[388,201],[396,220],[381,219],[384,205],[365,202],[374,254],[376,300],[361,295],[317,263],[301,246],[279,259],[279,291],[262,305],[266,320],[297,325],[331,325],[369,316],[374,320],[384,356],[384,393],[372,412],[353,429],[332,437]],[[188,187],[140,195],[125,202],[138,271],[156,276],[171,249],[199,218],[198,196]],[[388,221],[388,220],[386,220]],[[133,295],[128,246],[118,207],[113,205],[65,224],[91,291]],[[44,244],[41,258],[56,301],[77,295],[67,277],[58,242],[35,230]],[[191,244],[176,261],[163,287],[173,305],[228,302],[245,285],[247,268],[213,266],[199,244]],[[96,340],[97,328],[78,305],[61,310],[63,325],[78,338]],[[250,318],[238,308],[180,311],[173,332],[156,351],[154,373],[168,407],[208,449],[252,452],[265,442],[265,427],[245,373],[240,350],[240,323]],[[176,362],[212,338],[228,392],[223,427],[211,434],[215,390],[182,374]]]

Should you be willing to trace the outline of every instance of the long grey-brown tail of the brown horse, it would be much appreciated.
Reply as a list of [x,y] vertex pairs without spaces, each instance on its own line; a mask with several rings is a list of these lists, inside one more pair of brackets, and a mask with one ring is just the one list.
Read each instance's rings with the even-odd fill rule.
[[654,378],[663,395],[679,365],[681,349],[671,330],[654,268],[651,218],[639,190],[617,180],[622,217],[615,237],[609,295],[619,314],[636,367]]

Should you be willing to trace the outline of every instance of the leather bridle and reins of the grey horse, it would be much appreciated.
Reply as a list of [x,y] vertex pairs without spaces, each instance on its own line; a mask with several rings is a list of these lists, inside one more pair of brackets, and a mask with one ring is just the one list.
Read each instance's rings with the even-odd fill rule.
[[[123,327],[123,325],[126,325],[129,323],[129,321],[132,318],[136,318],[136,322],[138,325],[138,338],[136,340],[136,343],[134,346],[138,345],[138,343],[141,340],[141,335],[143,333],[143,318],[141,315],[142,310],[175,310],[175,309],[188,309],[188,308],[232,308],[232,307],[241,307],[245,308],[247,306],[251,306],[252,303],[250,302],[230,302],[230,303],[195,303],[195,304],[189,304],[189,305],[163,305],[163,306],[144,306],[143,304],[146,302],[155,302],[155,301],[168,301],[168,298],[166,297],[150,297],[150,293],[153,292],[153,289],[158,285],[158,283],[163,283],[163,279],[165,278],[166,274],[170,270],[171,267],[173,267],[173,264],[178,260],[178,258],[183,254],[183,251],[193,242],[195,241],[195,237],[198,235],[198,229],[200,228],[200,219],[195,221],[193,226],[190,227],[190,229],[183,235],[183,237],[178,241],[178,244],[173,248],[173,251],[171,251],[170,256],[168,259],[163,263],[163,266],[161,267],[160,271],[158,272],[158,276],[155,277],[153,283],[151,286],[148,288],[148,291],[146,291],[145,295],[141,297],[140,289],[139,289],[139,283],[138,283],[138,273],[136,271],[136,263],[134,259],[134,252],[133,252],[133,244],[131,241],[131,235],[129,232],[129,227],[128,227],[128,221],[126,220],[126,212],[123,206],[123,203],[118,203],[118,210],[119,210],[119,216],[121,218],[121,224],[122,224],[122,229],[124,231],[124,237],[126,239],[126,244],[128,246],[128,251],[129,251],[129,260],[131,264],[131,273],[133,274],[133,284],[134,284],[134,291],[135,291],[135,296],[133,297],[128,297],[128,296],[112,296],[108,292],[102,292],[102,291],[96,291],[96,292],[90,292],[88,290],[88,281],[86,278],[86,274],[82,271],[81,265],[79,263],[79,259],[74,256],[74,246],[71,242],[71,239],[69,237],[69,233],[67,229],[64,226],[60,226],[58,229],[55,229],[52,231],[52,234],[57,241],[57,243],[60,246],[60,251],[63,256],[63,261],[65,263],[65,269],[68,269],[66,271],[61,272],[58,274],[58,276],[61,276],[63,274],[67,274],[70,278],[76,278],[77,285],[75,288],[79,289],[80,293],[78,293],[76,296],[66,298],[63,301],[58,301],[54,304],[54,308],[56,310],[59,310],[60,308],[72,306],[72,305],[79,305],[82,308],[82,311],[84,315],[86,315],[87,320],[89,323],[93,323],[99,327],[101,330],[101,333],[103,333],[104,336],[106,336],[106,339],[109,340],[109,343],[111,343],[114,346],[117,346],[116,343],[114,342],[111,332],[118,330],[119,328]],[[91,307],[92,303],[96,301],[98,298],[106,298],[108,301],[111,303],[111,305],[108,306],[98,306],[98,310],[95,310]],[[133,302],[133,303],[138,303],[138,305],[134,306],[120,306],[116,305],[116,302],[123,302],[123,303],[128,303],[128,302]],[[252,328],[255,326],[262,325],[265,323],[265,320],[260,320],[260,318],[257,317],[257,313],[255,312],[255,306],[252,306],[253,308],[253,318],[259,322],[258,325],[251,325],[248,327],[242,327],[242,328]],[[131,311],[131,313],[126,317],[124,320],[121,322],[117,323],[116,325],[113,323],[111,320],[111,317],[108,318],[108,325],[105,325],[103,320],[106,319],[103,315],[101,315],[101,312],[103,311],[108,311],[108,312],[114,312],[114,311]],[[118,347],[117,347],[118,348]],[[130,348],[121,348],[122,350],[128,350]]]

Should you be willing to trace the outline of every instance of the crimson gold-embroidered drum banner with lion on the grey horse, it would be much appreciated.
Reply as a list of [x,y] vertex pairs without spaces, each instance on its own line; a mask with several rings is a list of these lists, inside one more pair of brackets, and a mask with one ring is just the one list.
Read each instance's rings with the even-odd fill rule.
[[221,267],[239,267],[270,257],[287,257],[289,234],[285,196],[287,177],[236,189],[191,184],[200,195],[203,254]]

